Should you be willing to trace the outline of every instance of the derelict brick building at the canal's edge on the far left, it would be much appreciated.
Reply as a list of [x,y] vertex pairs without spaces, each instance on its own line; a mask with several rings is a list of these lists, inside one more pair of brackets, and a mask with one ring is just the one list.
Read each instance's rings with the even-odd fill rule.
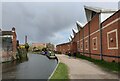
[[0,31],[1,42],[2,42],[2,62],[10,61],[13,57],[16,59],[16,46],[17,46],[17,35],[15,28],[11,31]]

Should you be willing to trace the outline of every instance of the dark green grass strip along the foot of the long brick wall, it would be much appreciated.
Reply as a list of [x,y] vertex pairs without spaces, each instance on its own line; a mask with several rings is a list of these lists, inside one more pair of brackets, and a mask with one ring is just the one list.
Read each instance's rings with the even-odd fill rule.
[[97,60],[97,59],[92,59],[90,57],[86,57],[80,54],[77,54],[78,58],[88,60],[90,62],[93,62],[94,64],[100,66],[104,70],[107,71],[112,71],[112,72],[120,72],[120,63],[115,63],[115,62],[106,62],[104,60]]

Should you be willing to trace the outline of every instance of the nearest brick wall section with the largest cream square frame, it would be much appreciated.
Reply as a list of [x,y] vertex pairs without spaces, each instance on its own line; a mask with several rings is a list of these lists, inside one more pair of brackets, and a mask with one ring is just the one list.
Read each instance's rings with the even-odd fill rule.
[[102,52],[104,55],[103,59],[109,62],[118,62],[117,56],[118,54],[120,54],[120,32],[118,28],[120,17],[118,14],[120,14],[120,11],[116,12],[113,16],[102,23]]

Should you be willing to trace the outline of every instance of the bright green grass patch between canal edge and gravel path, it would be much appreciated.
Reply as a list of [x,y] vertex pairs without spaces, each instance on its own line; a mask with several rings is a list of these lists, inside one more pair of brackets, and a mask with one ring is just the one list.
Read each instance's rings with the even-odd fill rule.
[[56,81],[56,79],[57,80],[64,79],[64,81],[68,81],[69,79],[68,67],[64,63],[61,62],[59,63],[55,73],[53,74],[49,81]]

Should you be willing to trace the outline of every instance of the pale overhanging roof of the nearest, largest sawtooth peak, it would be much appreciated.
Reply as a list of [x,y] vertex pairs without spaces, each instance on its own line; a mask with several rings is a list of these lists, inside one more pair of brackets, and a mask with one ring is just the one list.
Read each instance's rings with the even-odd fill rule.
[[96,13],[113,13],[117,10],[114,9],[103,9],[103,8],[99,8],[99,7],[91,7],[91,6],[84,6],[85,9],[90,10],[90,11],[94,11]]

